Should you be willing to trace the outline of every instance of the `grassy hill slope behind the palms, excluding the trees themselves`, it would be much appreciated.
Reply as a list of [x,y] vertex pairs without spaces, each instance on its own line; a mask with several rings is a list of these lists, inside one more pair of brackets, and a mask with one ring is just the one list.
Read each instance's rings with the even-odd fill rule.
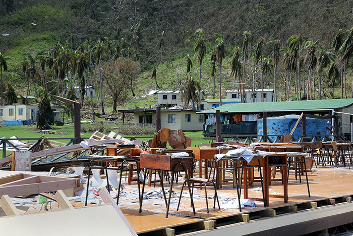
[[[46,51],[56,42],[69,43],[70,48],[77,47],[88,40],[98,39],[119,43],[127,42],[135,53],[141,54],[141,73],[133,83],[136,97],[130,96],[124,107],[146,106],[154,104],[151,98],[142,99],[156,84],[151,78],[152,69],[156,67],[159,89],[180,89],[185,80],[186,55],[193,55],[193,44],[185,43],[196,29],[204,29],[207,39],[207,52],[202,66],[202,88],[211,94],[213,86],[210,58],[215,49],[214,33],[224,35],[225,59],[222,63],[222,90],[233,88],[230,75],[230,59],[236,45],[242,48],[243,32],[252,31],[250,48],[260,37],[266,42],[280,39],[281,48],[288,46],[286,40],[293,34],[301,34],[313,42],[318,41],[325,51],[332,51],[331,42],[338,29],[346,30],[353,26],[353,3],[350,1],[305,0],[305,1],[3,1],[0,8],[0,52],[10,57],[7,61],[8,72],[4,80],[11,81],[15,89],[22,94],[26,91],[26,77],[21,73],[21,54]],[[164,48],[158,50],[157,42],[163,35]],[[104,37],[107,37],[104,39]],[[111,43],[112,45],[113,43]],[[113,52],[113,48],[110,49]],[[272,48],[266,44],[264,57],[271,59]],[[305,56],[306,50],[303,50]],[[284,87],[287,86],[284,57],[279,61],[278,99],[285,99]],[[107,60],[107,58],[103,58]],[[163,60],[163,62],[162,62]],[[199,64],[193,60],[191,76],[198,80]],[[259,88],[259,66],[249,59],[246,66],[247,88]],[[347,72],[351,66],[347,66]],[[37,68],[40,78],[40,69]],[[257,71],[255,73],[255,71]],[[331,98],[327,88],[330,83],[324,71],[322,89],[325,98]],[[48,76],[54,80],[53,71]],[[219,86],[219,69],[216,71],[216,87]],[[306,79],[308,72],[305,72]],[[99,87],[97,73],[92,74],[93,85]],[[347,73],[347,96],[351,97],[351,76]],[[293,87],[291,80],[291,87]],[[39,80],[38,80],[39,83]],[[274,86],[273,70],[266,74],[265,85]],[[339,97],[339,83],[336,83],[335,97]],[[216,91],[218,90],[216,88]],[[31,89],[33,93],[33,88]],[[111,100],[105,93],[105,104],[109,107]],[[217,96],[218,92],[216,92]],[[225,96],[225,93],[223,93]],[[218,97],[218,96],[217,96]],[[291,89],[291,99],[296,99]],[[317,98],[317,95],[316,95]],[[98,99],[98,98],[97,98]],[[98,101],[97,101],[98,103]],[[123,106],[123,105],[122,105]]]

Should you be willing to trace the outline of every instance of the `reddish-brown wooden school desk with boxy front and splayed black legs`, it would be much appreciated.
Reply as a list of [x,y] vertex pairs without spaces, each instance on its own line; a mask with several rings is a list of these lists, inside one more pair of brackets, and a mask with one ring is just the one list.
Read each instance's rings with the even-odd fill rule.
[[[146,181],[147,171],[149,169],[157,170],[158,174],[159,174],[159,178],[160,178],[160,185],[162,187],[165,205],[167,208],[166,213],[165,213],[165,218],[168,218],[170,196],[171,196],[170,193],[171,193],[171,190],[173,187],[175,171],[184,170],[185,177],[188,182],[189,194],[191,196],[188,170],[189,171],[191,170],[192,162],[193,162],[192,157],[174,157],[173,155],[152,155],[152,154],[141,154],[141,156],[140,156],[140,167],[145,168],[145,176],[144,176],[143,184],[142,184],[142,195],[143,195],[143,192],[145,189],[145,181]],[[166,197],[165,197],[164,186],[163,186],[163,175],[161,174],[161,171],[171,171],[172,172],[168,201],[166,200]],[[141,213],[143,196],[141,196],[140,199],[141,199],[141,201],[140,201],[140,213]],[[196,214],[195,207],[194,207],[194,201],[192,198],[191,198],[191,206],[193,208],[194,214]]]

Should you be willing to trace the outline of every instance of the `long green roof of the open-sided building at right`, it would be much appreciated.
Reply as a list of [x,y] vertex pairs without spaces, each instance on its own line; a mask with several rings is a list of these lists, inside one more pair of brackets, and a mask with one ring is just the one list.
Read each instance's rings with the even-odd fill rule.
[[289,102],[267,102],[267,103],[233,103],[202,111],[198,113],[212,114],[216,110],[221,113],[256,113],[256,112],[279,112],[279,111],[315,111],[331,110],[353,105],[353,99],[331,99],[312,101],[289,101]]

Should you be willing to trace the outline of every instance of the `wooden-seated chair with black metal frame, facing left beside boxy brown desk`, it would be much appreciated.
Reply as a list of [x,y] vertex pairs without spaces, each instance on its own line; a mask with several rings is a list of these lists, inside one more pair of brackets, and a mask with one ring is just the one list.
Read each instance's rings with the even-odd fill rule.
[[[214,201],[217,200],[218,208],[220,209],[219,200],[218,200],[218,196],[217,196],[217,188],[216,188],[216,183],[215,183],[216,168],[217,168],[217,158],[213,157],[212,158],[212,162],[211,162],[211,166],[210,166],[210,172],[208,174],[208,178],[189,178],[189,184],[191,184],[191,186],[192,186],[192,191],[191,191],[190,198],[193,198],[194,187],[195,186],[199,187],[199,188],[205,188],[207,213],[209,213],[209,210],[208,210],[208,199],[207,199],[207,186],[213,186],[213,188],[214,188]],[[178,203],[177,211],[179,210],[179,205],[180,205],[180,201],[182,199],[183,189],[184,189],[184,186],[185,186],[186,183],[187,183],[187,180],[184,181],[183,186],[182,186],[182,191],[181,191],[181,194],[180,194],[180,197],[179,197],[179,203]],[[215,208],[214,205],[213,205],[213,208]]]

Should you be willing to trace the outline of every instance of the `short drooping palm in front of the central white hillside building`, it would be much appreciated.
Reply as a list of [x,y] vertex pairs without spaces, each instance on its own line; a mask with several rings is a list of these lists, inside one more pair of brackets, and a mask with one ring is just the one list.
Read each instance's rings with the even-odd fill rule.
[[201,85],[199,82],[195,81],[190,73],[187,75],[187,80],[185,81],[184,85],[184,108],[189,108],[189,103],[192,101],[193,109],[195,109],[195,103],[197,105],[200,104],[200,96],[198,95],[198,91],[201,91]]

